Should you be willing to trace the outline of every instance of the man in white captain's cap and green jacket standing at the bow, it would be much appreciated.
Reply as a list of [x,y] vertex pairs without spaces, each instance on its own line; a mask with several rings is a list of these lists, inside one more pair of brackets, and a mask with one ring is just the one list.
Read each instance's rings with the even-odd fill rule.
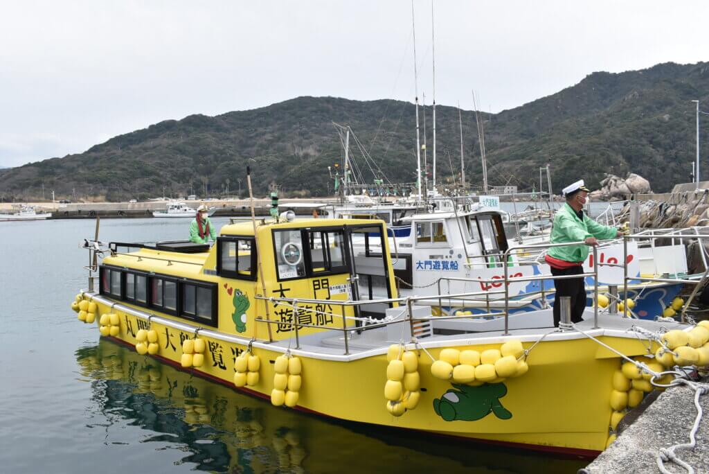
[[[552,247],[545,257],[552,275],[580,275],[584,272],[584,260],[588,257],[588,246],[598,244],[596,239],[617,238],[623,232],[617,228],[603,226],[584,214],[588,189],[584,180],[570,184],[562,190],[566,204],[557,211],[552,226],[551,243],[584,242],[578,246]],[[571,321],[579,323],[586,308],[586,287],[584,278],[554,280],[554,326],[559,326],[561,308],[559,299],[571,297]]]

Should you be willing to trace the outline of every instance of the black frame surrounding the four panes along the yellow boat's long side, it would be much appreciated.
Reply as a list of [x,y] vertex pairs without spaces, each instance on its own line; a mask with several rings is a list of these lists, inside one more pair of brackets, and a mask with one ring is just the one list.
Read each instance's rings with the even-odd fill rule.
[[[111,271],[116,271],[119,272],[120,278],[121,278],[121,295],[116,296],[113,293],[107,293],[104,292],[103,290],[103,279],[106,270],[111,270]],[[130,299],[126,297],[126,292],[125,292],[125,275],[128,273],[133,274],[135,276],[141,276],[145,277],[145,302],[140,302],[138,301],[137,298]],[[175,302],[175,307],[176,309],[167,309],[162,306],[157,306],[155,304],[152,304],[151,302],[151,294],[150,292],[152,291],[152,279],[157,278],[160,280],[163,280],[163,288],[162,288],[162,299],[163,299],[163,304],[164,304],[164,281],[170,281],[174,282],[176,284],[175,287],[175,297],[177,298],[177,301]],[[196,304],[197,304],[197,292],[195,291],[195,314],[187,314],[184,312],[184,309],[182,308],[182,299],[183,299],[183,294],[182,294],[182,288],[184,285],[193,285],[195,287],[202,287],[206,288],[207,290],[210,290],[211,292],[211,315],[210,319],[204,319],[204,318],[199,318],[196,315]],[[110,287],[110,285],[109,285]],[[191,280],[190,278],[183,278],[183,277],[176,277],[174,275],[164,275],[162,273],[155,273],[155,272],[143,272],[140,270],[133,270],[130,268],[125,268],[125,267],[117,267],[113,265],[100,265],[99,266],[99,294],[102,294],[106,297],[112,298],[112,299],[118,299],[121,302],[126,302],[129,304],[133,304],[138,307],[142,307],[145,309],[152,309],[157,312],[161,312],[164,314],[170,314],[172,316],[177,316],[182,319],[188,319],[189,321],[194,321],[197,323],[205,324],[206,326],[211,326],[211,327],[218,327],[218,307],[219,307],[219,295],[218,295],[218,283],[216,282],[204,282],[201,280]],[[137,292],[135,292],[137,295]]]

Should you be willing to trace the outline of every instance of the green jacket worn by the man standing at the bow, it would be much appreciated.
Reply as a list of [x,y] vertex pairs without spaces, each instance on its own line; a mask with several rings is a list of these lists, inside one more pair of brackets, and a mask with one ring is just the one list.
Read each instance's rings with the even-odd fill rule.
[[[568,203],[564,204],[554,216],[554,226],[552,226],[552,243],[581,242],[588,237],[596,237],[600,240],[615,238],[618,229],[598,224],[584,214],[584,220],[576,216],[574,209]],[[552,247],[547,251],[550,257],[564,260],[565,262],[583,262],[588,257],[588,246],[566,246]]]

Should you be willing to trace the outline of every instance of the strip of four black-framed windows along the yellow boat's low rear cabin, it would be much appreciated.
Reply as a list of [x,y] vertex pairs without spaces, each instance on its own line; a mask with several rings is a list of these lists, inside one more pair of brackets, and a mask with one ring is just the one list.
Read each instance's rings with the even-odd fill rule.
[[[99,275],[101,294],[111,299],[217,326],[216,283],[105,266],[101,266]],[[112,290],[115,282],[118,286]]]

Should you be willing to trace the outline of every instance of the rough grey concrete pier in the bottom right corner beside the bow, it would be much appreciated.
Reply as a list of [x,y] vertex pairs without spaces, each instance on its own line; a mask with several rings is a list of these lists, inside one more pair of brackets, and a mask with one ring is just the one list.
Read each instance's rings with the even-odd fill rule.
[[[708,382],[708,380],[704,380]],[[709,384],[703,384],[709,387]],[[704,415],[696,434],[694,449],[678,449],[676,456],[691,465],[696,473],[709,473],[709,394],[699,398]],[[694,390],[681,385],[661,393],[618,439],[579,474],[659,473],[657,453],[660,448],[688,443],[697,415]],[[632,417],[632,412],[626,417]],[[621,421],[622,427],[623,421]],[[665,461],[672,473],[686,473],[679,465]]]

